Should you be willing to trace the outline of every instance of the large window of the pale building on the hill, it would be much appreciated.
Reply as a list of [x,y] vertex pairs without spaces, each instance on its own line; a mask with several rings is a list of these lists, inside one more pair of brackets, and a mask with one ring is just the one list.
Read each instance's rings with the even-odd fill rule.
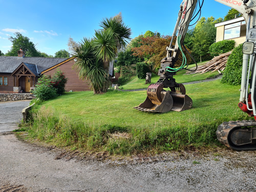
[[246,36],[245,21],[229,24],[225,26],[224,39],[232,39]]

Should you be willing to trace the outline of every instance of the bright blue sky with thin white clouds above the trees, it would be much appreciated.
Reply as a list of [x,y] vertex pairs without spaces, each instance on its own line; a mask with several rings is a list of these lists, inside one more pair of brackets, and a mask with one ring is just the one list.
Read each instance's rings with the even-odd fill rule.
[[[30,38],[36,49],[53,55],[68,49],[71,36],[75,41],[93,37],[104,17],[122,13],[125,25],[132,29],[132,38],[147,30],[161,35],[173,33],[178,1],[66,1],[66,0],[0,0],[0,50],[11,48],[9,36],[20,32]],[[205,0],[201,17],[224,17],[230,8],[214,0]]]

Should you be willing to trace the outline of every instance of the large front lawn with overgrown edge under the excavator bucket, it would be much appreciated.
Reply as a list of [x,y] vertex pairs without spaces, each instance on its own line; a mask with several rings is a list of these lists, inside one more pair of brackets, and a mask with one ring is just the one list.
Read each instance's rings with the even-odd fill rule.
[[144,101],[146,91],[67,93],[35,107],[29,136],[58,146],[110,154],[162,152],[188,145],[219,145],[215,135],[219,124],[249,118],[237,106],[238,86],[216,80],[190,84],[186,90],[193,107],[164,114],[133,109]]

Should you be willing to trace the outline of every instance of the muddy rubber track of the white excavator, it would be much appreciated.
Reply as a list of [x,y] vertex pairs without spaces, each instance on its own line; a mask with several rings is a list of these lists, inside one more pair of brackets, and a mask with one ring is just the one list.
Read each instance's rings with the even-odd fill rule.
[[256,126],[256,121],[254,120],[243,120],[243,121],[229,121],[223,122],[221,125],[218,126],[218,130],[216,132],[217,139],[228,148],[232,148],[228,144],[228,133],[234,129],[235,127],[242,127],[242,126]]

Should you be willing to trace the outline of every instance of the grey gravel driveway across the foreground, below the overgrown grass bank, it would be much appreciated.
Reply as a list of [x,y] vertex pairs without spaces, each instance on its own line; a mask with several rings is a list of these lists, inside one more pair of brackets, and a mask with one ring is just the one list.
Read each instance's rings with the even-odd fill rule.
[[1,192],[256,191],[256,152],[219,149],[97,161],[86,154],[64,157],[55,147],[28,144],[13,134],[0,134],[0,146]]

